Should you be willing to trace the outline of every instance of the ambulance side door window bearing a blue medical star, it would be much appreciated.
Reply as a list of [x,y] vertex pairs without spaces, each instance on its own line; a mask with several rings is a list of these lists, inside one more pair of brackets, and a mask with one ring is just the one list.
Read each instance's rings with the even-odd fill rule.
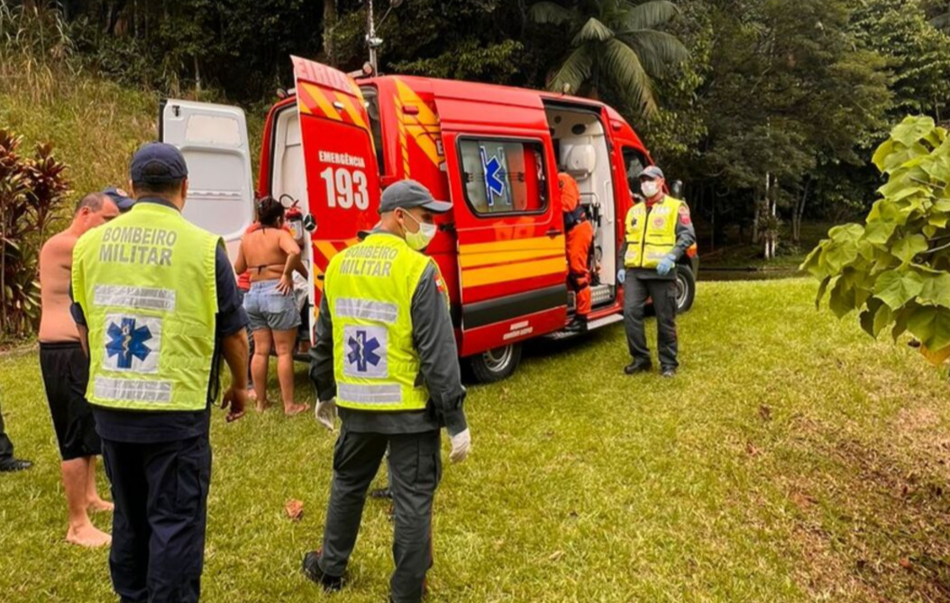
[[460,139],[466,200],[479,216],[538,214],[547,209],[540,141]]

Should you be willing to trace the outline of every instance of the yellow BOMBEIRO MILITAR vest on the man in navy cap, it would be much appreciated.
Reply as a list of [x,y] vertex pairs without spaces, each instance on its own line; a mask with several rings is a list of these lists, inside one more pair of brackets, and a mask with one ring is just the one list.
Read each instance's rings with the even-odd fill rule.
[[151,202],[80,237],[72,292],[88,328],[90,404],[202,410],[211,386],[217,396],[220,244],[177,209]]

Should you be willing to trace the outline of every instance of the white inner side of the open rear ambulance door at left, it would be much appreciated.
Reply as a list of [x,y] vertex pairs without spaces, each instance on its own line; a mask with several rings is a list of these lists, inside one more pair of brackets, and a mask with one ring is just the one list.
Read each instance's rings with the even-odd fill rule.
[[184,217],[224,238],[234,261],[240,237],[254,220],[244,111],[169,99],[161,103],[159,139],[177,146],[188,164]]

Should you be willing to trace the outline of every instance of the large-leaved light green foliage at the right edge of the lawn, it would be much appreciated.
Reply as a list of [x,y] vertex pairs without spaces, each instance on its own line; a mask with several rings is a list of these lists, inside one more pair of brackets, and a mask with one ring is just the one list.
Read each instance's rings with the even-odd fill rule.
[[887,177],[864,224],[837,226],[802,265],[821,280],[816,304],[852,311],[872,337],[906,330],[932,359],[950,355],[950,138],[907,118],[874,154]]

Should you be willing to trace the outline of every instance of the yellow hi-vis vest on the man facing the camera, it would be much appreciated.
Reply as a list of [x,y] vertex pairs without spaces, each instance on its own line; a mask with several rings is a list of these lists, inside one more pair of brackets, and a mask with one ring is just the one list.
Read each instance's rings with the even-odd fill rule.
[[625,268],[656,268],[676,246],[676,220],[683,201],[665,197],[647,212],[647,204],[637,203],[627,212],[627,253]]

